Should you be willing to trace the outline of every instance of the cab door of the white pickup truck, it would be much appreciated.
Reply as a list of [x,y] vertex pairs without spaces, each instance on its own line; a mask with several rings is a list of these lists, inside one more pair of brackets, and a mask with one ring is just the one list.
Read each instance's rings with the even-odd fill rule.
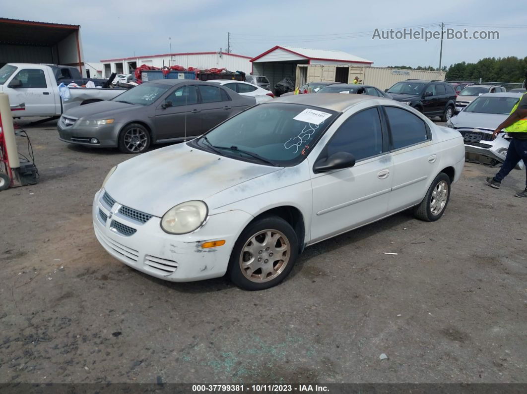
[[[22,85],[11,87],[17,81]],[[21,111],[25,116],[53,116],[56,115],[55,96],[58,92],[52,87],[50,76],[43,69],[21,68],[7,85],[5,93],[9,94],[12,106],[25,104],[25,110]]]

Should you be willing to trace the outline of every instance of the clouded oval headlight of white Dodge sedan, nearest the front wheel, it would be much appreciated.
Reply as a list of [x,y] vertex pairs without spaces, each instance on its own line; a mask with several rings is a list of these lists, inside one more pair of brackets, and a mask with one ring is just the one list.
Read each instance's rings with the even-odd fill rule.
[[161,219],[161,228],[169,234],[187,234],[199,228],[209,213],[203,201],[187,201],[169,209]]

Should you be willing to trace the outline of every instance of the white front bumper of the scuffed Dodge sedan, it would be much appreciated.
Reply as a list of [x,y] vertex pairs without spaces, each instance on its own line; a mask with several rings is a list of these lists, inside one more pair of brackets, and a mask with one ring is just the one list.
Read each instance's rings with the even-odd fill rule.
[[[245,211],[231,210],[210,215],[193,233],[171,235],[161,229],[161,218],[152,216],[145,223],[139,223],[122,215],[119,203],[114,202],[110,207],[103,195],[104,189],[95,194],[92,209],[93,228],[99,243],[124,264],[174,282],[225,275],[232,248],[252,219]],[[225,245],[201,248],[202,243],[219,239],[225,239]]]

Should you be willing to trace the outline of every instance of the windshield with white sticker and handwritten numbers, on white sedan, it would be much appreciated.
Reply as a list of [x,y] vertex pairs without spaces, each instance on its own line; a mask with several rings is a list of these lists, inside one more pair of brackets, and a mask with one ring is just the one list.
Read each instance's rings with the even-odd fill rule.
[[261,104],[230,118],[210,130],[207,140],[198,138],[193,144],[236,159],[294,166],[309,154],[336,117],[336,112],[325,108]]

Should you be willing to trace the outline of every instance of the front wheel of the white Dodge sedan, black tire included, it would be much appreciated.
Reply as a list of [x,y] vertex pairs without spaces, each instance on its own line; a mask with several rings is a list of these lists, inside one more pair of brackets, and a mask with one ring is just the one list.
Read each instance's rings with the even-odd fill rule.
[[[264,244],[256,244],[251,239]],[[266,241],[269,242],[267,247]],[[257,250],[260,247],[261,249]],[[244,248],[254,249],[255,252],[254,254],[250,251],[242,252]],[[276,259],[279,252],[282,254],[280,257],[284,258]],[[284,280],[293,268],[297,257],[298,238],[295,230],[284,219],[269,216],[253,221],[242,231],[232,249],[227,274],[230,280],[242,289],[264,290]],[[251,260],[251,258],[257,268],[252,271],[249,266],[245,270],[242,269],[243,260]],[[262,268],[258,268],[260,266]],[[262,278],[263,275],[266,277]]]

